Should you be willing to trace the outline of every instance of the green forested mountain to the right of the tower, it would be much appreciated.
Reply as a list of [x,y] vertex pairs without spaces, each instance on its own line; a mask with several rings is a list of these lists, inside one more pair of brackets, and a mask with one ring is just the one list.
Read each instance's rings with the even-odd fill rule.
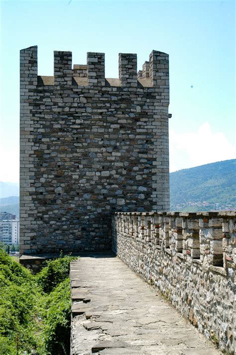
[[170,173],[170,210],[236,209],[236,159]]

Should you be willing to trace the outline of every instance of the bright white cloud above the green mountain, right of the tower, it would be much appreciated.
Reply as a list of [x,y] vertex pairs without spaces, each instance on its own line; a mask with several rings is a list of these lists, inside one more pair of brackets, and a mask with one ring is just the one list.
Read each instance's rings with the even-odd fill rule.
[[170,130],[170,172],[236,158],[236,146],[222,132],[213,132],[208,122],[197,132]]

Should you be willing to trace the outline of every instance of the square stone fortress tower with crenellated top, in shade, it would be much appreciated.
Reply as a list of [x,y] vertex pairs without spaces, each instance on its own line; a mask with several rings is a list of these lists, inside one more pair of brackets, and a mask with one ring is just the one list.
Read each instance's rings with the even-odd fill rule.
[[168,55],[104,53],[74,65],[54,51],[37,75],[37,46],[20,51],[20,253],[111,248],[114,211],[169,209]]

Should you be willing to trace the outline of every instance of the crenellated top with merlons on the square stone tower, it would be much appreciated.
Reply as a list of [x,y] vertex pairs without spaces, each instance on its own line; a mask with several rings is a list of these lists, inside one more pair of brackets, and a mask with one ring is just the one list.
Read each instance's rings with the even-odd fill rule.
[[[30,54],[34,60],[30,59]],[[31,68],[37,72],[37,46],[20,51],[21,68]],[[75,64],[72,69],[72,52],[54,51],[54,76],[39,76],[38,85],[78,85],[78,86],[120,86],[125,88],[156,87],[168,92],[169,58],[168,54],[152,51],[149,61],[145,61],[142,70],[137,72],[137,55],[119,53],[118,79],[105,78],[105,54],[87,53],[87,64]],[[87,80],[85,80],[87,79]]]

